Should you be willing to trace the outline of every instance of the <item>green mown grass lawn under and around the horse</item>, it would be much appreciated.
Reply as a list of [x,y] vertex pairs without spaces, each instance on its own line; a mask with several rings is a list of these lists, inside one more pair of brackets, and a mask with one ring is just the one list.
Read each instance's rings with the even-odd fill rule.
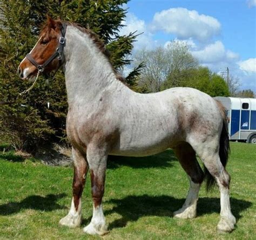
[[[231,143],[227,170],[237,228],[216,232],[219,192],[201,188],[198,217],[172,218],[185,201],[188,181],[172,150],[142,158],[112,157],[108,163],[104,212],[110,233],[104,239],[255,239],[256,146]],[[71,201],[72,168],[48,167],[0,152],[0,239],[100,239],[82,228],[60,227]],[[90,222],[90,177],[83,194],[82,227]]]

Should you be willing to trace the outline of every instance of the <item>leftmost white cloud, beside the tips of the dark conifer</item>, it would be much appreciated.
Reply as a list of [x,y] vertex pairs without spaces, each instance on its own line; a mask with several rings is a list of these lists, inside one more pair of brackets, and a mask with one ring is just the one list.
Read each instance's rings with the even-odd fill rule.
[[136,34],[140,34],[136,38],[136,42],[134,42],[134,51],[141,49],[142,47],[146,47],[147,49],[151,49],[156,46],[156,41],[153,40],[153,35],[148,31],[147,25],[144,20],[139,19],[133,13],[127,13],[126,20],[122,22],[124,26],[120,29],[119,35],[129,35],[131,32],[136,32]]

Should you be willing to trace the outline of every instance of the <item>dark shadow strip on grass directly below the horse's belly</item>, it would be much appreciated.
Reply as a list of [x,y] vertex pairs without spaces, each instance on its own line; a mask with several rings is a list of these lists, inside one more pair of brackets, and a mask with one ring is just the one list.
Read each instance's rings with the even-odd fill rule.
[[172,167],[172,161],[177,161],[172,149],[145,157],[109,155],[107,159],[107,168],[114,169],[121,166],[129,166],[131,168],[167,168]]

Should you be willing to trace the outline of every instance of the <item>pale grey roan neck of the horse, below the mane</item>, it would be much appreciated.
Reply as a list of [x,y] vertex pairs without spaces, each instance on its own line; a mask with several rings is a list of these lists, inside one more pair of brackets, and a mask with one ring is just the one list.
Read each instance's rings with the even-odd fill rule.
[[92,39],[73,26],[66,31],[65,58],[69,105],[82,101],[88,104],[105,90],[114,92],[126,88],[116,79],[109,60]]

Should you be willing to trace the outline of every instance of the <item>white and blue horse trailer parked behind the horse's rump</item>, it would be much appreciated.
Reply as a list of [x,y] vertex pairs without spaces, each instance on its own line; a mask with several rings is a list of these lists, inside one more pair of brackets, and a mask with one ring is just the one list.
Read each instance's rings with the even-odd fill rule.
[[226,108],[230,140],[256,144],[256,99],[216,97]]

